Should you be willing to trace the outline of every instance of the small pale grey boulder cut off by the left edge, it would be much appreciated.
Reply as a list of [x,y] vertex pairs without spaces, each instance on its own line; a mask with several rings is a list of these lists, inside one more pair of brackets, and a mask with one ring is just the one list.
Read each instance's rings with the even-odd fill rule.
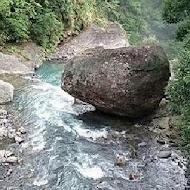
[[12,84],[0,80],[0,104],[5,104],[13,100],[14,87]]

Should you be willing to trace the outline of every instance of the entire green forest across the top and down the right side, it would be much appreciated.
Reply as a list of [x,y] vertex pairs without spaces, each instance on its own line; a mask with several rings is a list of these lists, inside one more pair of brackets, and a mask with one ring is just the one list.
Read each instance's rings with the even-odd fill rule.
[[[154,11],[152,11],[154,10]],[[51,49],[91,23],[120,22],[132,45],[156,43],[176,59],[168,87],[190,149],[190,4],[188,0],[1,0],[0,44],[34,41]],[[176,62],[176,61],[175,61]]]

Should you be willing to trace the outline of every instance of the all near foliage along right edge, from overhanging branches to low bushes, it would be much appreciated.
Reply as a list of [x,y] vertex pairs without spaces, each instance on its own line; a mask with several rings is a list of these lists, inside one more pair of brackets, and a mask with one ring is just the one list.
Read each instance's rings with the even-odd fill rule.
[[167,0],[163,18],[168,23],[178,23],[176,39],[181,51],[175,67],[175,80],[168,88],[174,112],[181,114],[184,147],[190,153],[190,4],[189,0]]

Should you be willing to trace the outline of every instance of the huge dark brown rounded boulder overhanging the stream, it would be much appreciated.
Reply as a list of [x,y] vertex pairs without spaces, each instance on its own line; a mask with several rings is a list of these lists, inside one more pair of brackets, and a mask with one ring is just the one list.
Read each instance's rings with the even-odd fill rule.
[[160,47],[96,48],[68,61],[62,88],[101,111],[135,118],[155,110],[169,77]]

